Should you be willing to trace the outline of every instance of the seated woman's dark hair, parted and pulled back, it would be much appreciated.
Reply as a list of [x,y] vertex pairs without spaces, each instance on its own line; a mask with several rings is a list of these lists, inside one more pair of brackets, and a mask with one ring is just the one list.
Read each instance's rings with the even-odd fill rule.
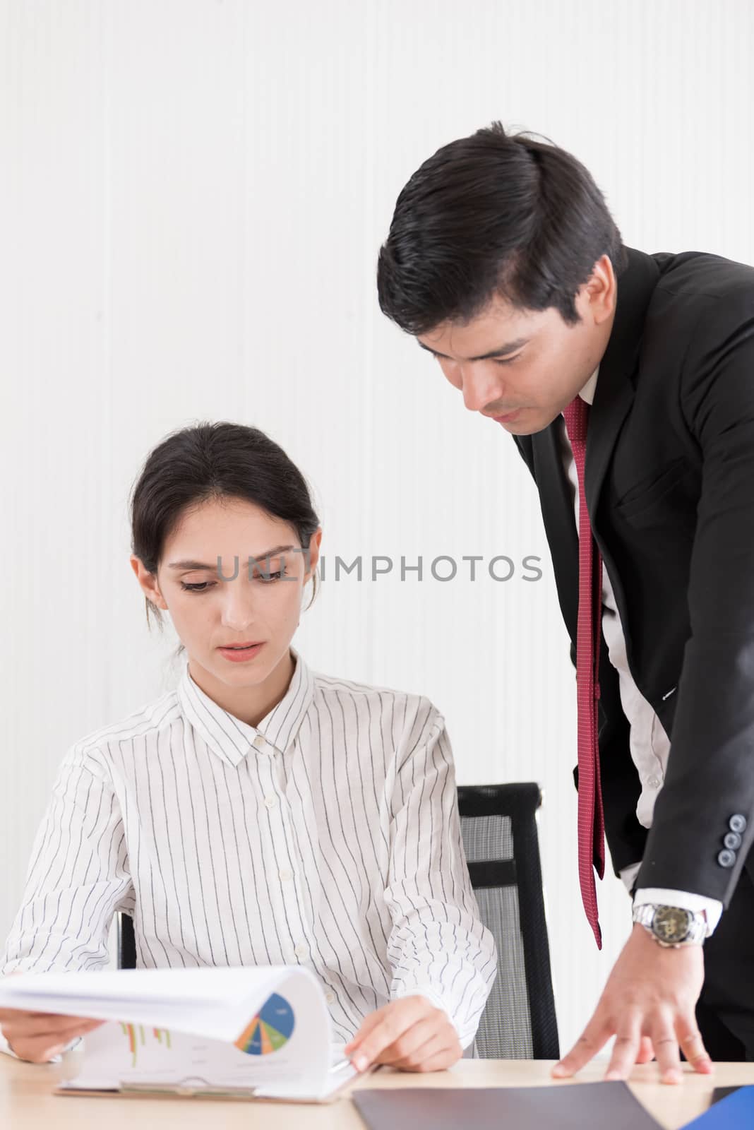
[[[254,503],[290,523],[303,549],[319,527],[306,480],[282,447],[255,427],[202,421],[172,432],[147,457],[130,498],[131,551],[156,575],[165,542],[186,510],[221,498]],[[307,608],[318,591],[316,570],[312,582]],[[159,608],[144,599],[147,625],[154,615],[161,628]]]

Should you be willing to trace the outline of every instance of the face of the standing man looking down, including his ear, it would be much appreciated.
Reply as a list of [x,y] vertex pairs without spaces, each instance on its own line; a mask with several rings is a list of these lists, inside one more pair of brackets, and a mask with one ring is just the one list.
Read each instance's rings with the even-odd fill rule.
[[521,311],[494,298],[466,325],[442,322],[417,340],[437,357],[470,411],[512,435],[532,435],[552,424],[599,364],[615,293],[612,263],[603,255],[576,296],[576,325],[554,307]]

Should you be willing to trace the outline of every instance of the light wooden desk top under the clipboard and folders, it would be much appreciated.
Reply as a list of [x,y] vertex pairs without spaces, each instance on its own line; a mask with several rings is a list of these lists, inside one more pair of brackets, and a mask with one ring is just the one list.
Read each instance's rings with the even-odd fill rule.
[[[80,1054],[69,1052],[69,1058]],[[550,1078],[550,1063],[521,1060],[462,1060],[450,1071],[410,1075],[380,1070],[361,1080],[365,1087],[569,1087]],[[328,1106],[209,1098],[122,1098],[53,1095],[63,1064],[21,1063],[0,1055],[0,1125],[12,1130],[365,1130],[348,1098]],[[600,1079],[605,1064],[589,1066],[578,1083]],[[667,1130],[677,1130],[707,1110],[712,1087],[754,1084],[754,1063],[718,1063],[713,1076],[689,1075],[681,1086],[657,1083],[657,1066],[634,1069],[631,1089]]]

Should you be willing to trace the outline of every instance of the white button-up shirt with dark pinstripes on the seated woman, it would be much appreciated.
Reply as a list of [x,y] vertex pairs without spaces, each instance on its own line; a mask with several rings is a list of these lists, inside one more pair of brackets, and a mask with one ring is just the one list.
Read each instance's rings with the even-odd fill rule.
[[[497,970],[428,698],[309,670],[247,725],[194,683],[67,751],[0,972],[300,964],[334,1038],[421,993],[472,1043]],[[6,1045],[7,1046],[7,1045]]]

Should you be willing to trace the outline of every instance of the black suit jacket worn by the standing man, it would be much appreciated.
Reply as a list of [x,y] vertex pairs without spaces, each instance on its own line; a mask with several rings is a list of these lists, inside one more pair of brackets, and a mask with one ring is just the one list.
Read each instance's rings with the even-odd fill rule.
[[[754,268],[626,251],[589,417],[586,496],[631,673],[670,755],[647,833],[603,642],[606,835],[616,872],[642,860],[638,887],[727,905],[754,837]],[[578,539],[561,427],[515,440],[540,492],[575,643]],[[742,816],[731,861],[724,837]]]

